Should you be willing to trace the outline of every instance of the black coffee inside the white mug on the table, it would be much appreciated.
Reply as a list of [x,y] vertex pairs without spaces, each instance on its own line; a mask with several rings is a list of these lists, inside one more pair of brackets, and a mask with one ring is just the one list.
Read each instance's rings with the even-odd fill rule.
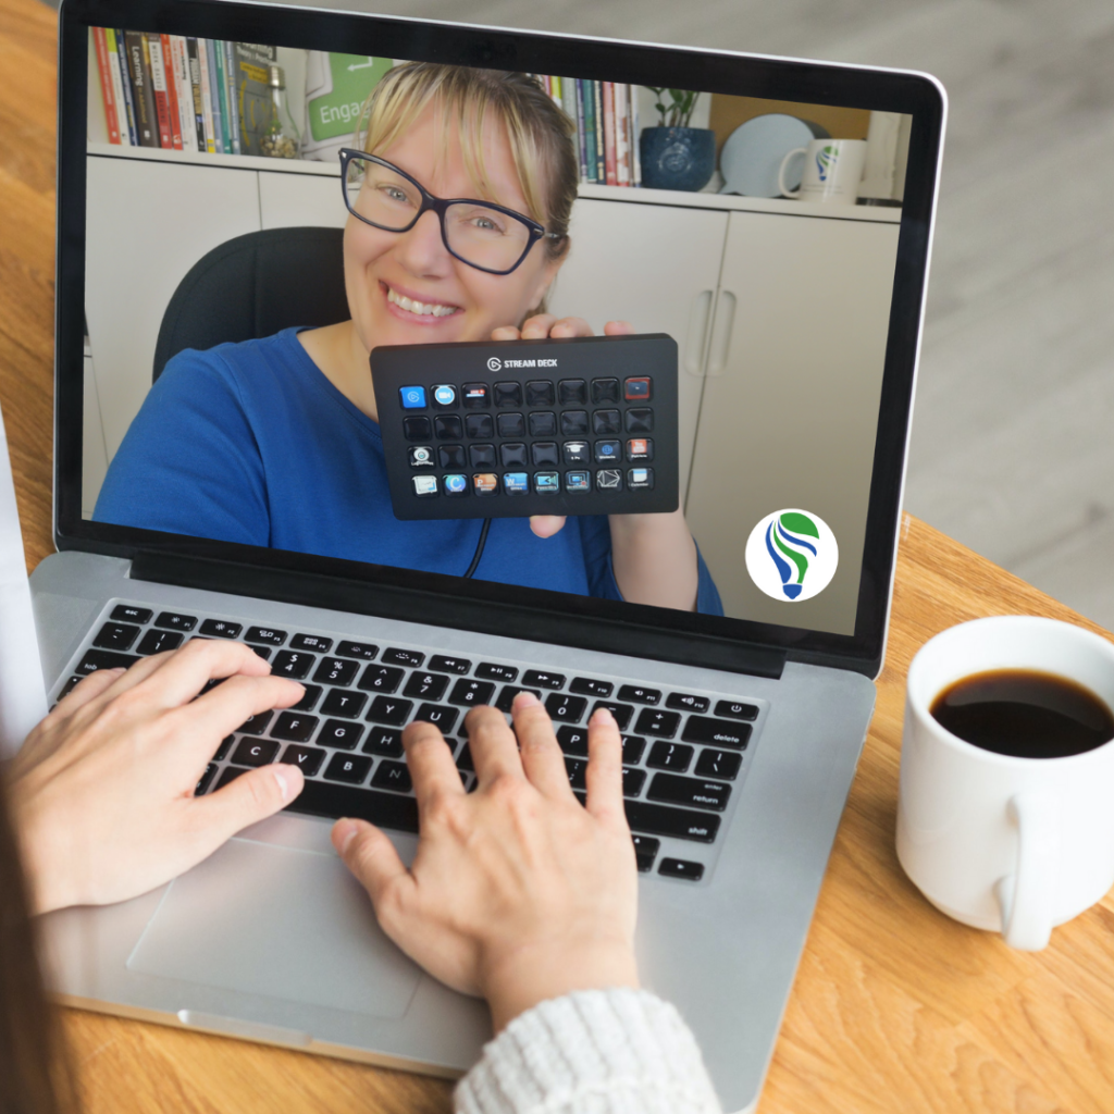
[[975,673],[932,701],[934,719],[996,754],[1062,759],[1114,739],[1114,715],[1074,681],[1035,670]]

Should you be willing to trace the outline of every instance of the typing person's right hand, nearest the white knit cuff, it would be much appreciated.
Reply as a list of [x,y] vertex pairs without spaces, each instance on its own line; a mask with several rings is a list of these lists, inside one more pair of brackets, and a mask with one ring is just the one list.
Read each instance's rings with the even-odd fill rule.
[[606,710],[592,717],[582,807],[538,698],[519,693],[511,714],[514,732],[495,709],[468,714],[472,793],[437,727],[407,727],[420,823],[409,870],[378,828],[333,828],[383,931],[442,983],[486,997],[497,1032],[547,998],[638,985],[618,726]]

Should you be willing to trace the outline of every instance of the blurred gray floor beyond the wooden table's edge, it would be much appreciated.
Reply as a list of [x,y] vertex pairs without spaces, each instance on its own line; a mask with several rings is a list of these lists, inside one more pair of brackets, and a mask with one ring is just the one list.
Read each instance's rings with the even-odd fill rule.
[[1114,628],[1111,0],[333,6],[939,77],[951,116],[907,507]]

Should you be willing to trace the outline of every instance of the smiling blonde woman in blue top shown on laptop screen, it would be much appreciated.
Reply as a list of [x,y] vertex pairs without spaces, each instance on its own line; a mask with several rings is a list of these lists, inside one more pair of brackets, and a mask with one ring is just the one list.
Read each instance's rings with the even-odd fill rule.
[[[419,62],[382,79],[365,123],[363,150],[374,158],[352,158],[346,170],[351,320],[175,356],[111,462],[96,519],[457,576],[468,569],[479,520],[399,521],[391,510],[369,353],[590,335],[584,320],[558,321],[545,307],[570,246],[573,125],[525,75]],[[479,201],[467,225],[429,208],[405,227],[423,190]],[[498,208],[485,215],[485,202]],[[498,247],[467,235],[489,217],[499,222]],[[475,576],[722,614],[680,509],[495,519]]]

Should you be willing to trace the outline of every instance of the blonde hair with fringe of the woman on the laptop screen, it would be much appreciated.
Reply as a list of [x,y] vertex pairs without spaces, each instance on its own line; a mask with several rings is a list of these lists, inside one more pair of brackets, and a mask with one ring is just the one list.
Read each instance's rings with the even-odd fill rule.
[[573,143],[575,126],[540,82],[526,74],[404,62],[390,70],[363,106],[358,135],[369,155],[390,147],[430,104],[442,114],[442,153],[449,120],[456,121],[465,168],[486,201],[497,201],[483,164],[483,128],[502,124],[510,144],[527,216],[558,238],[545,240],[550,260],[568,251],[568,222],[579,172]]

